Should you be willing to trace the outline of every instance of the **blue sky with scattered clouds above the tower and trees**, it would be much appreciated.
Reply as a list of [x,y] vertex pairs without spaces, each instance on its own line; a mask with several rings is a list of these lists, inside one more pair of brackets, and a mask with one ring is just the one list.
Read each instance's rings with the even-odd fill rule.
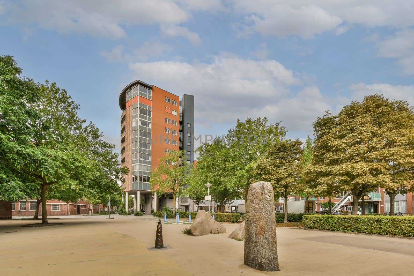
[[117,146],[135,79],[195,95],[197,134],[267,116],[304,139],[369,94],[414,105],[412,14],[411,1],[0,0],[0,53],[66,89]]

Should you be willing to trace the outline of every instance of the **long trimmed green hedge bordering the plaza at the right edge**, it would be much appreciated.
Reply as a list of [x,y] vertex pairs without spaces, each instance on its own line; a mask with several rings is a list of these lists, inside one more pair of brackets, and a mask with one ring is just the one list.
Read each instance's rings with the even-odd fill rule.
[[414,237],[413,216],[303,216],[303,225],[310,229]]

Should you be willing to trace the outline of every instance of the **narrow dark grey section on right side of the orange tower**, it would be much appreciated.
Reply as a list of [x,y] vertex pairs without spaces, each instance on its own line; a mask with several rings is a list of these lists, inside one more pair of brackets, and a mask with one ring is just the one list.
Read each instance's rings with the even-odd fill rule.
[[187,161],[194,161],[194,96],[184,94],[180,101],[182,125],[182,150],[187,154]]

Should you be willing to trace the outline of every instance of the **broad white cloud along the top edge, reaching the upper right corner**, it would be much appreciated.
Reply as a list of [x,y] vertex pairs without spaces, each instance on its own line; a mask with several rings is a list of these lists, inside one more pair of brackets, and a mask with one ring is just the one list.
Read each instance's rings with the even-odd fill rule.
[[[325,31],[337,35],[355,24],[368,28],[390,26],[407,28],[414,25],[411,0],[330,1],[315,0],[231,0],[236,12],[248,15],[252,24],[241,25],[241,33],[258,31],[263,35],[289,35],[313,38]],[[240,33],[239,33],[240,34]]]

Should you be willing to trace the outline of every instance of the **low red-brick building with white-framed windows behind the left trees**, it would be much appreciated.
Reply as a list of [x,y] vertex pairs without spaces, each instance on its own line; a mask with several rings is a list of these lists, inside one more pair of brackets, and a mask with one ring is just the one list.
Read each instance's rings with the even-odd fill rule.
[[[36,211],[36,200],[25,199],[9,203],[12,216],[34,216]],[[102,205],[101,205],[102,206]],[[79,200],[78,202],[63,202],[59,200],[48,200],[46,210],[48,216],[69,216],[81,214],[96,214],[99,212],[99,204],[92,204],[87,201]],[[39,216],[41,216],[42,207],[39,207]]]

